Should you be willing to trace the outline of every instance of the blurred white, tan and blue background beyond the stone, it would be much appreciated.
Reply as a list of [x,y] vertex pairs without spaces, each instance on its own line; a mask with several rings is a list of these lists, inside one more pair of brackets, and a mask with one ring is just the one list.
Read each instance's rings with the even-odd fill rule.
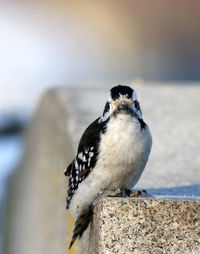
[[198,84],[199,13],[198,0],[1,0],[0,199],[46,88]]

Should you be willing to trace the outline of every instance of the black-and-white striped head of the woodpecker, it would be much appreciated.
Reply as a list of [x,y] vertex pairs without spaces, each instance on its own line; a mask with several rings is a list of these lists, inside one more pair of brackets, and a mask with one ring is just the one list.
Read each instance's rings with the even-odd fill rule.
[[110,89],[101,121],[106,121],[109,117],[116,117],[118,114],[130,114],[142,119],[137,94],[129,86],[118,85]]

